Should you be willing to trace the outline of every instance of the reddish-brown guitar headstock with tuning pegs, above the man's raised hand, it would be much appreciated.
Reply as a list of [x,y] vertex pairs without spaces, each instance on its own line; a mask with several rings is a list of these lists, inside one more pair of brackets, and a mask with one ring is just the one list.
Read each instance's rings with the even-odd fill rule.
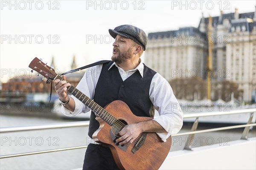
[[55,73],[55,70],[53,68],[46,65],[37,57],[35,57],[32,60],[32,62],[30,62],[29,68],[32,68],[33,70],[37,71],[39,74],[41,74],[43,77],[47,79],[54,79],[57,76],[57,73]]

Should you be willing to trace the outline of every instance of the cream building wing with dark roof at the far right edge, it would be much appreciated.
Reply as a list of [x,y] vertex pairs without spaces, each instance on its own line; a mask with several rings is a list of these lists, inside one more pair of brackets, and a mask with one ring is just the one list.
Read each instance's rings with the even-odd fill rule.
[[[250,18],[232,20],[230,39],[226,45],[225,78],[239,84],[244,100],[251,100],[256,92],[256,22]],[[254,95],[255,96],[255,95]]]

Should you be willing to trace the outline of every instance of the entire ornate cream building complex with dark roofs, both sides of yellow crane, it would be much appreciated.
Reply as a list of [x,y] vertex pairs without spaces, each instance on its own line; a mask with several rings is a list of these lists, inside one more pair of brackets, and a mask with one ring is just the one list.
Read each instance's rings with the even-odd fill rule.
[[[256,11],[212,17],[202,16],[198,28],[148,34],[145,64],[167,80],[201,77],[205,79],[208,40],[212,48],[212,82],[229,80],[239,85],[243,100],[251,101],[256,91]],[[209,39],[210,38],[210,39]]]

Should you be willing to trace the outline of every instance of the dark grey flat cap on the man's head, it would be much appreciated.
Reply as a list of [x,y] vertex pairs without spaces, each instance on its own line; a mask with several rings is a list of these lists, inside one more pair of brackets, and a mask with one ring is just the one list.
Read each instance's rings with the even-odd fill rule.
[[146,50],[148,37],[142,29],[137,28],[136,26],[122,25],[116,27],[115,29],[109,29],[108,32],[113,38],[116,38],[116,35],[130,38],[141,45],[143,51]]

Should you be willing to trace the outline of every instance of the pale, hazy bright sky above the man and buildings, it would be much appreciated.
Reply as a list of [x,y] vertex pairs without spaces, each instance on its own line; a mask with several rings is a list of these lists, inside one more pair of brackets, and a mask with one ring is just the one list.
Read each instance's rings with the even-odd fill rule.
[[60,72],[71,69],[73,56],[77,67],[111,59],[109,28],[130,24],[148,34],[198,27],[202,15],[255,6],[255,0],[0,0],[0,81],[31,76],[35,57],[48,64],[54,57]]

